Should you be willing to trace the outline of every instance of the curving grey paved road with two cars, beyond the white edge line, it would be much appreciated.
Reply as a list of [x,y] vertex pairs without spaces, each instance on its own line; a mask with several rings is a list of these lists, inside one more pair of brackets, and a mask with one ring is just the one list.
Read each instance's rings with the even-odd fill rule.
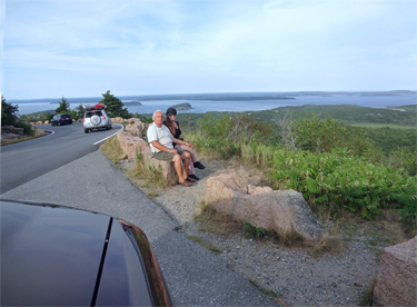
[[1,192],[97,150],[101,140],[122,128],[121,125],[113,123],[111,130],[85,133],[81,122],[54,127],[37,125],[36,127],[49,130],[51,135],[1,147]]

